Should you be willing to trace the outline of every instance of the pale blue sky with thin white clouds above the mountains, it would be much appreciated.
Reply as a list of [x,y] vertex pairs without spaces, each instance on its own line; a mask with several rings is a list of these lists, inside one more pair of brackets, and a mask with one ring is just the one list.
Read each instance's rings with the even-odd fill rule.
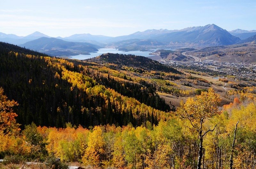
[[256,0],[1,0],[0,32],[120,36],[215,24],[256,29]]

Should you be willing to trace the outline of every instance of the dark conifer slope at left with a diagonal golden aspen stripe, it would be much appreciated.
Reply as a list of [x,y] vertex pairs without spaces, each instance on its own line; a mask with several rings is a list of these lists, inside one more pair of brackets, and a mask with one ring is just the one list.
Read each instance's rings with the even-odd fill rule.
[[17,121],[22,125],[33,121],[56,127],[66,122],[84,127],[130,122],[140,126],[147,120],[165,119],[165,112],[171,110],[156,94],[156,87],[145,81],[106,76],[92,69],[94,63],[83,66],[82,62],[2,46],[0,86],[8,98],[18,101]]

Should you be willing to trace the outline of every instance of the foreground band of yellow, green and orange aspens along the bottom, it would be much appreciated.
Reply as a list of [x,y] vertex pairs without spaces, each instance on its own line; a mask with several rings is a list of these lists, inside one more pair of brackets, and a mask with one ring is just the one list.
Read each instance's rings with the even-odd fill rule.
[[[71,123],[67,123],[65,128],[47,128],[36,127],[32,123],[19,133],[20,129],[13,119],[17,115],[12,110],[17,103],[9,101],[2,89],[0,99],[0,157],[5,156],[6,160],[13,163],[25,159],[46,160],[41,167],[46,165],[66,169],[67,165],[56,162],[54,158],[51,160],[53,154],[62,162],[80,162],[84,167],[94,168],[196,168],[201,144],[198,142],[198,136],[202,133],[203,166],[229,168],[231,154],[234,168],[253,169],[255,166],[255,103],[243,106],[236,98],[234,103],[224,106],[222,112],[218,112],[218,107],[214,106],[218,103],[215,100],[218,95],[214,94],[212,89],[209,94],[203,92],[202,96],[187,101],[178,110],[179,116],[174,115],[167,121],[160,121],[156,126],[147,122],[145,126],[136,128],[129,124],[122,128],[100,125],[86,129],[82,126],[72,126]],[[205,106],[206,109],[202,109]],[[187,111],[197,109],[200,113],[186,118],[186,114],[182,113],[186,107],[190,108]],[[215,111],[207,113],[207,109],[211,110],[211,107]],[[5,121],[4,117],[9,119]],[[202,117],[205,120],[201,123],[202,128],[198,129],[198,134],[198,120]],[[5,125],[7,123],[8,125]],[[13,164],[6,166],[8,168]],[[0,164],[0,167],[5,165]]]

